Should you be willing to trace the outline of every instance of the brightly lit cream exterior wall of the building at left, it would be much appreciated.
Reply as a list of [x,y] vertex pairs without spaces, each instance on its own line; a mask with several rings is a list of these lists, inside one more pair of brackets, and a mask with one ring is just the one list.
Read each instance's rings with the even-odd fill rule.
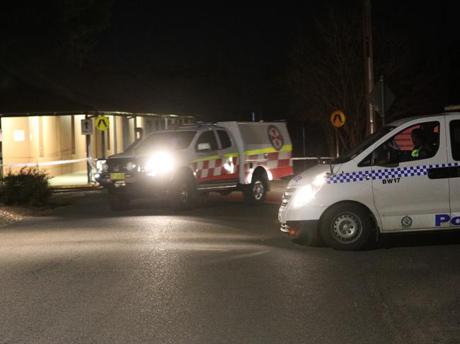
[[[134,118],[127,120],[126,117],[122,116],[108,117],[110,126],[108,131],[105,131],[105,157],[124,151],[123,136],[128,139],[129,144],[136,139],[134,136]],[[84,118],[84,114],[2,117],[0,120],[3,134],[3,163],[8,165],[86,158],[86,136],[81,134],[81,119]],[[117,121],[116,135],[115,121]],[[191,119],[178,117],[173,119],[166,119],[165,117],[144,119],[144,117],[136,117],[136,126],[144,129],[144,135],[149,134],[146,131],[147,121],[149,121],[149,131],[159,131],[165,129],[166,123],[170,127],[174,124],[188,123]],[[95,127],[94,134],[91,135],[91,158],[102,158],[102,155],[101,131]],[[86,161],[40,168],[55,177],[61,174],[85,171]],[[4,172],[8,169],[9,167],[4,167]],[[17,172],[21,170],[21,167],[11,167],[11,170]]]

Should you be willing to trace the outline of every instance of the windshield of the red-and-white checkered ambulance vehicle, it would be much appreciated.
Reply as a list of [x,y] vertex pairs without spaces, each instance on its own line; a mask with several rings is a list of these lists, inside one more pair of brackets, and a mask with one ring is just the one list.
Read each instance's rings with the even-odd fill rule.
[[142,141],[134,142],[126,152],[136,150],[137,155],[148,154],[152,150],[163,148],[166,150],[180,150],[190,146],[196,131],[163,131],[151,134]]

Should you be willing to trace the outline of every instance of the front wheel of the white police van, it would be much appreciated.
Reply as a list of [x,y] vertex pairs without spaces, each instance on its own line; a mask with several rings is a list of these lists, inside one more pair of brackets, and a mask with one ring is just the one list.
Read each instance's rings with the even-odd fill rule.
[[371,219],[366,210],[354,203],[343,203],[326,210],[321,221],[321,237],[333,249],[361,249],[371,234]]

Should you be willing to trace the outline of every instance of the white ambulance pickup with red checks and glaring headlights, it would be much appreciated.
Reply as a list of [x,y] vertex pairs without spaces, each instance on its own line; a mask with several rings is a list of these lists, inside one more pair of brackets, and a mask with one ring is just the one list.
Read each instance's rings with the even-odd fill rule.
[[128,208],[133,198],[161,198],[173,209],[187,209],[211,191],[243,191],[248,203],[259,204],[270,180],[292,175],[291,157],[282,121],[188,124],[98,160],[95,177],[113,210]]

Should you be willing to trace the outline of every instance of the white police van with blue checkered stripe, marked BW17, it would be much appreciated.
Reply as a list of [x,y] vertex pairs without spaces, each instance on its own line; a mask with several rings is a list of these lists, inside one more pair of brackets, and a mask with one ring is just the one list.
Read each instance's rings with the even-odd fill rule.
[[379,233],[460,225],[460,113],[393,121],[330,165],[294,177],[282,232],[360,249]]

